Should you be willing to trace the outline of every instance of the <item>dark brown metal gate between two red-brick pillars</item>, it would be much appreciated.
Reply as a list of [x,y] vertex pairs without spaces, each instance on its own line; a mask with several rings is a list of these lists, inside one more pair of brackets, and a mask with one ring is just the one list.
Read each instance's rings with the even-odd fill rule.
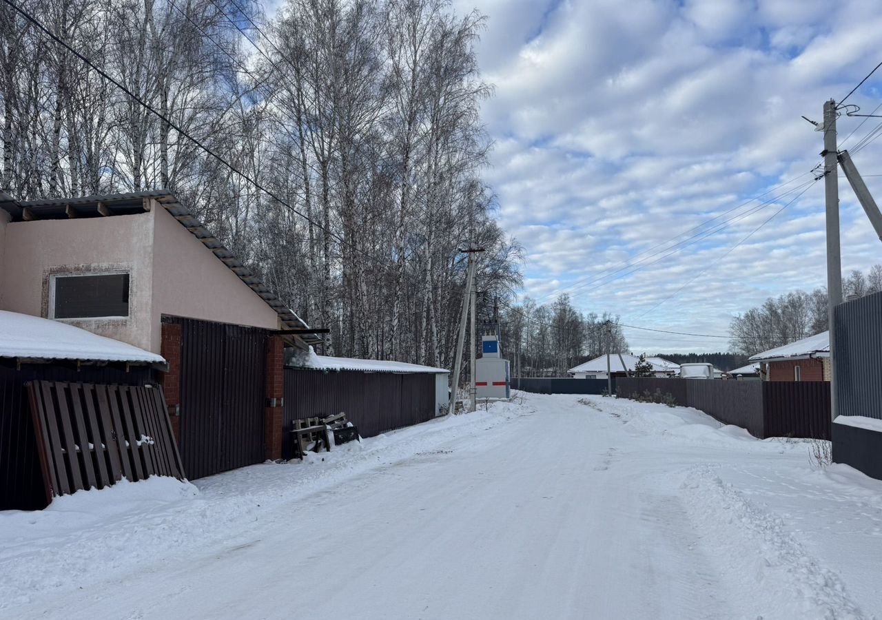
[[181,459],[191,480],[264,460],[266,333],[164,317],[181,325]]

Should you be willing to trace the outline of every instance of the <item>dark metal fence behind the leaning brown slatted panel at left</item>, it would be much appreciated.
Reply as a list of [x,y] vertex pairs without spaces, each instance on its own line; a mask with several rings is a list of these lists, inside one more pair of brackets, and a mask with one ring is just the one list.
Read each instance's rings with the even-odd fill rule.
[[153,383],[153,370],[138,366],[21,364],[0,361],[0,510],[39,510],[47,504],[25,384],[36,379],[101,384]]

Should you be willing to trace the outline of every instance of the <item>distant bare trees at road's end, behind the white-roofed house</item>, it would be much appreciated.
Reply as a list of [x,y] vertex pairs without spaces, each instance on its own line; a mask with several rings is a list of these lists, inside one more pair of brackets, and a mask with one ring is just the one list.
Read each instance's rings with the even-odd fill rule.
[[569,295],[539,305],[524,303],[504,309],[503,355],[510,361],[513,377],[566,377],[579,363],[628,350],[619,317],[575,310]]

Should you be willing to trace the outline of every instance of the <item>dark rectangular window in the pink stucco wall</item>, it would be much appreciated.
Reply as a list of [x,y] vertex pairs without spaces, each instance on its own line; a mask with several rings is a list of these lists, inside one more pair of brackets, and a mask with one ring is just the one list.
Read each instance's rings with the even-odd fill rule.
[[128,317],[129,274],[55,277],[55,318]]

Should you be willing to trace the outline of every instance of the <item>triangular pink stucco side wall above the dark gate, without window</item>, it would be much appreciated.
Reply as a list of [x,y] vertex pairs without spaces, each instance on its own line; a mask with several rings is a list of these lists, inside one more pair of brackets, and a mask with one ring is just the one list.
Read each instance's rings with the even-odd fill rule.
[[279,315],[199,243],[161,205],[155,204],[153,341],[160,347],[161,315],[275,329]]

